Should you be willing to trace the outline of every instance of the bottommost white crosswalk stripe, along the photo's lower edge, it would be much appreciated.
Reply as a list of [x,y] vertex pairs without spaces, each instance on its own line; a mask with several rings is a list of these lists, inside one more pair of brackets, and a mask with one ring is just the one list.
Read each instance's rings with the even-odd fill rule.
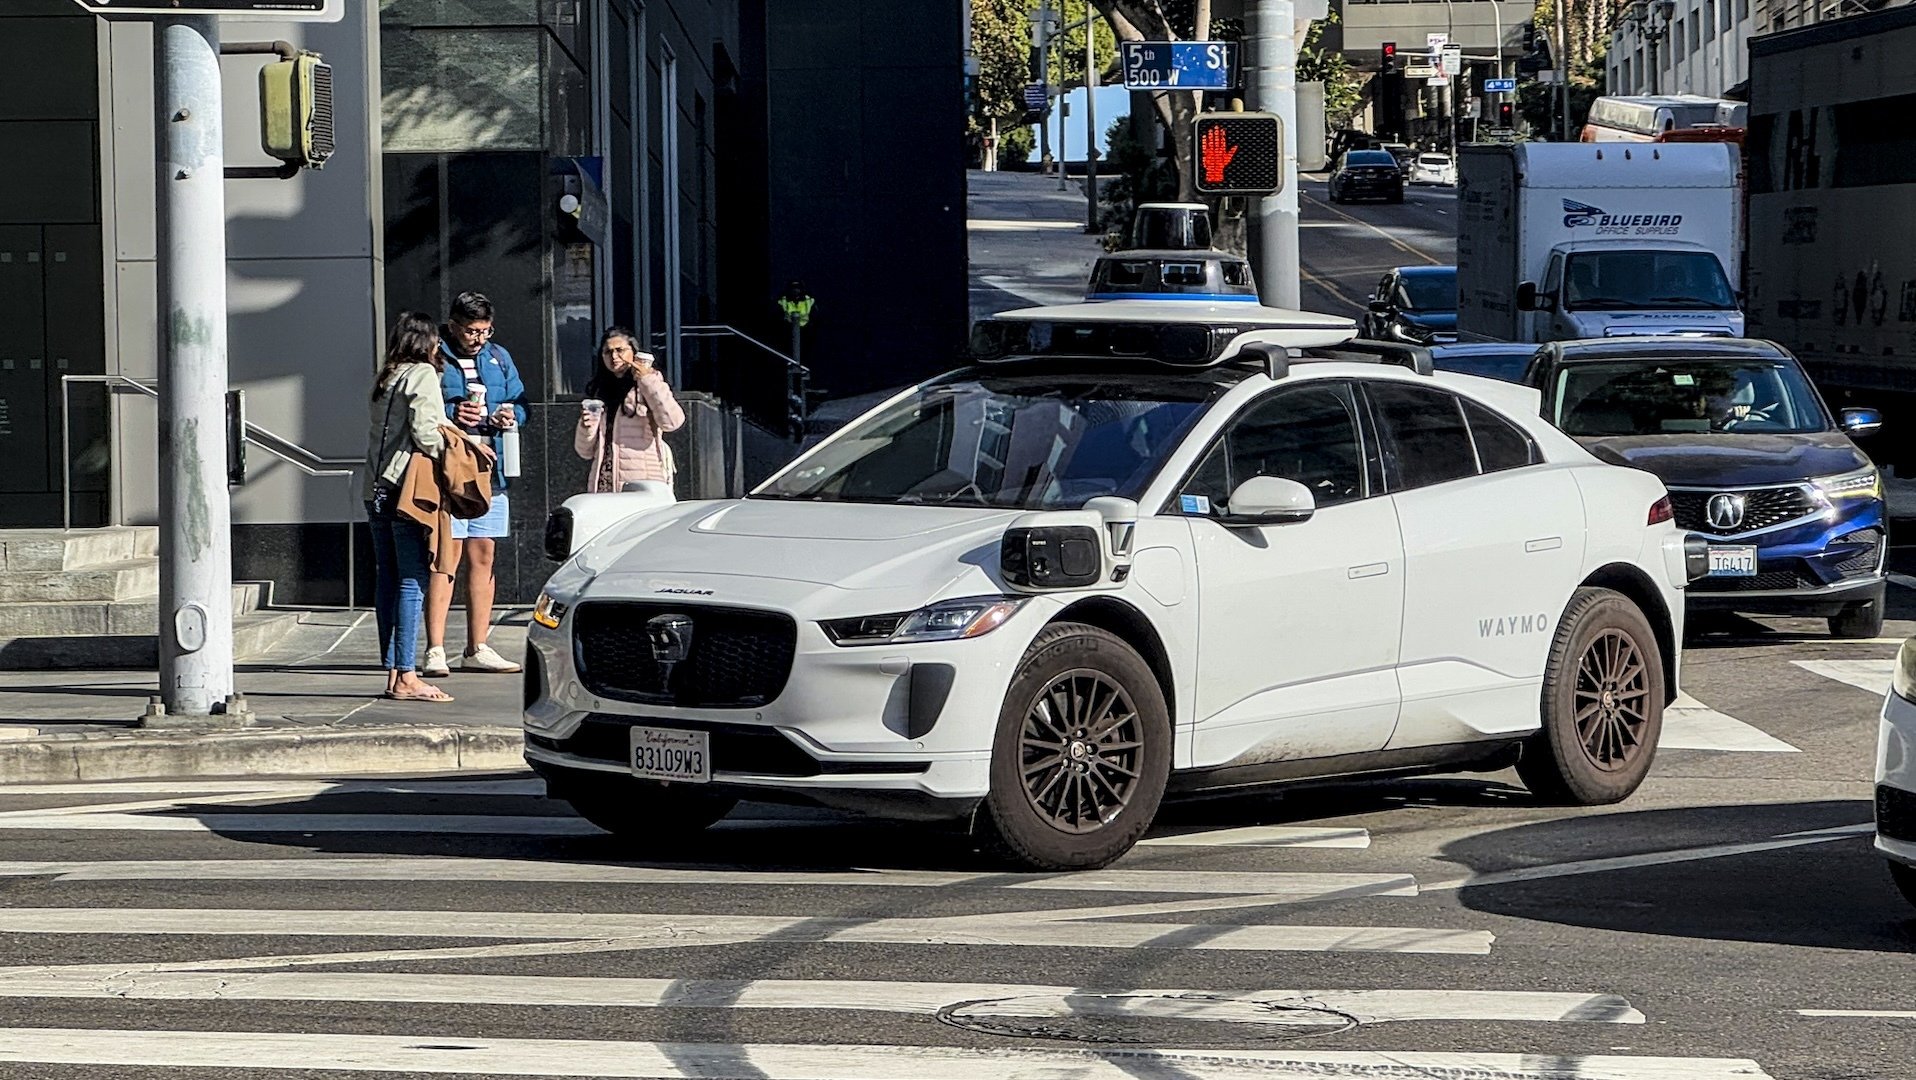
[[1709,1057],[960,1049],[931,1046],[724,1046],[596,1040],[0,1028],[0,1061],[174,1069],[469,1072],[651,1080],[1767,1080],[1755,1061]]

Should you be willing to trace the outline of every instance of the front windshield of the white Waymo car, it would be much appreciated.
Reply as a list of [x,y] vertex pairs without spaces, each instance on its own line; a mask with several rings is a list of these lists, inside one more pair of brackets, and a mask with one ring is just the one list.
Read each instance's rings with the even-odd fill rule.
[[1228,385],[1205,373],[964,371],[866,416],[753,498],[1006,509],[1138,498]]

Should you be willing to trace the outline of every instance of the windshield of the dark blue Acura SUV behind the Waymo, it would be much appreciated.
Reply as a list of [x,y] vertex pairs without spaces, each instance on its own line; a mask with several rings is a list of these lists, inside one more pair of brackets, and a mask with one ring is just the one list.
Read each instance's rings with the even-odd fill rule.
[[1830,419],[1803,370],[1784,360],[1567,364],[1556,425],[1567,435],[1801,435]]

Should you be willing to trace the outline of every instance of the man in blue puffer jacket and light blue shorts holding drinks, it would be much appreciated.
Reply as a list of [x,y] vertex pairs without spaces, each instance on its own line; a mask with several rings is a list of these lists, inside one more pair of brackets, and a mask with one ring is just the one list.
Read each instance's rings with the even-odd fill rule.
[[[498,435],[525,423],[525,383],[512,354],[492,341],[492,303],[481,293],[460,293],[452,301],[439,350],[445,360],[441,389],[446,419],[462,431],[485,439],[498,454]],[[483,398],[485,404],[479,404]],[[487,643],[492,628],[492,559],[496,540],[512,534],[512,504],[506,498],[504,469],[492,471],[492,509],[473,521],[452,521],[460,571],[466,574],[466,657],[462,670],[512,674],[519,664]],[[452,674],[446,663],[446,615],[452,609],[454,580],[433,574],[425,590],[425,676]]]

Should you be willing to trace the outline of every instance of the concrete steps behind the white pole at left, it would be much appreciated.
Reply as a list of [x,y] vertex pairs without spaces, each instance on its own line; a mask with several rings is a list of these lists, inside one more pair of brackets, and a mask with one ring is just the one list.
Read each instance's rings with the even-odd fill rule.
[[[155,668],[157,546],[157,529],[0,530],[0,670]],[[299,624],[262,603],[262,584],[234,586],[240,661]]]

